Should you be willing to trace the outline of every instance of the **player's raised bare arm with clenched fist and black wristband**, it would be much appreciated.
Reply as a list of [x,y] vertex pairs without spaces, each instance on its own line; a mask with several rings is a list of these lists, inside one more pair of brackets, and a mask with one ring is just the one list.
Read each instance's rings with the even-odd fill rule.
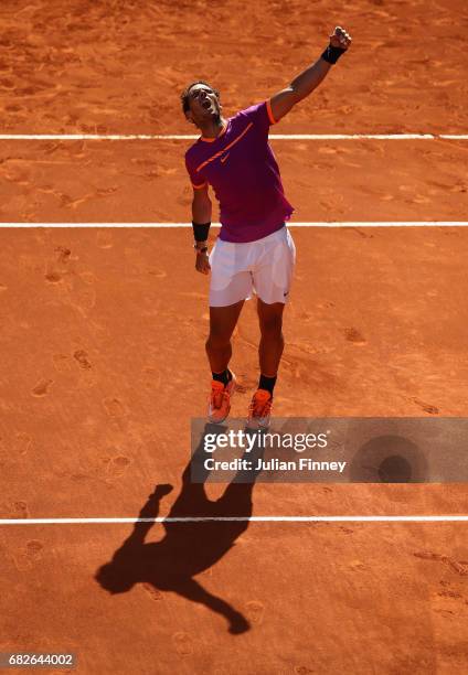
[[[309,96],[326,78],[333,62],[351,45],[351,36],[341,26],[330,35],[330,45],[320,58],[292,79],[290,85],[270,99],[272,114],[276,121],[281,119],[300,100]],[[331,50],[330,50],[331,47]],[[337,51],[338,50],[338,51]],[[328,58],[328,60],[327,60]]]

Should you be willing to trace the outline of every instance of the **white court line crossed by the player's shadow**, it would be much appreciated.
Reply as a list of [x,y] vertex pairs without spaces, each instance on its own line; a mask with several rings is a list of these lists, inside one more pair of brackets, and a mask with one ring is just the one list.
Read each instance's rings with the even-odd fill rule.
[[0,525],[103,525],[118,523],[468,523],[468,515],[220,516],[161,518],[1,518]]

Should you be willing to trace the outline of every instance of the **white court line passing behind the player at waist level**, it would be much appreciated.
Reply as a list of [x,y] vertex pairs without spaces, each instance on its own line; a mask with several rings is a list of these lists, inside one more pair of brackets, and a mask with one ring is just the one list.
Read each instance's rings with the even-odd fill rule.
[[[288,227],[466,227],[468,221],[379,221],[379,222],[307,222],[288,223]],[[191,223],[0,223],[0,229],[6,227],[140,227],[140,228],[191,228]],[[220,223],[212,223],[220,227]]]

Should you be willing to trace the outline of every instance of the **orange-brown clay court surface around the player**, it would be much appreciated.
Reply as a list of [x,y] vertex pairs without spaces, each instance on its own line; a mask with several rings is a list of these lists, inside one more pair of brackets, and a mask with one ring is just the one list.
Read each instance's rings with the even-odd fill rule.
[[[272,132],[467,133],[461,0],[3,0],[0,133],[192,133],[188,82],[213,82],[233,115],[336,24],[352,51]],[[466,522],[248,521],[466,515],[465,484],[182,480],[210,382],[208,280],[188,228],[99,223],[188,223],[189,143],[0,141],[0,516],[246,519],[1,524],[0,651],[72,651],[86,674],[466,673]],[[468,228],[394,225],[467,219],[468,141],[272,144],[292,225],[350,223],[291,227],[276,415],[466,416]],[[71,223],[95,226],[42,226]],[[236,417],[257,341],[251,302]]]

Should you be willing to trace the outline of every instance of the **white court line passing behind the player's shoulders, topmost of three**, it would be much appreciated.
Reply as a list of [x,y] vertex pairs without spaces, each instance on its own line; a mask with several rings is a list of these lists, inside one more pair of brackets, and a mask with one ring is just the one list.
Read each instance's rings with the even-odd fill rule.
[[[187,133],[0,133],[0,140],[196,140]],[[468,133],[270,133],[270,140],[468,140]]]

